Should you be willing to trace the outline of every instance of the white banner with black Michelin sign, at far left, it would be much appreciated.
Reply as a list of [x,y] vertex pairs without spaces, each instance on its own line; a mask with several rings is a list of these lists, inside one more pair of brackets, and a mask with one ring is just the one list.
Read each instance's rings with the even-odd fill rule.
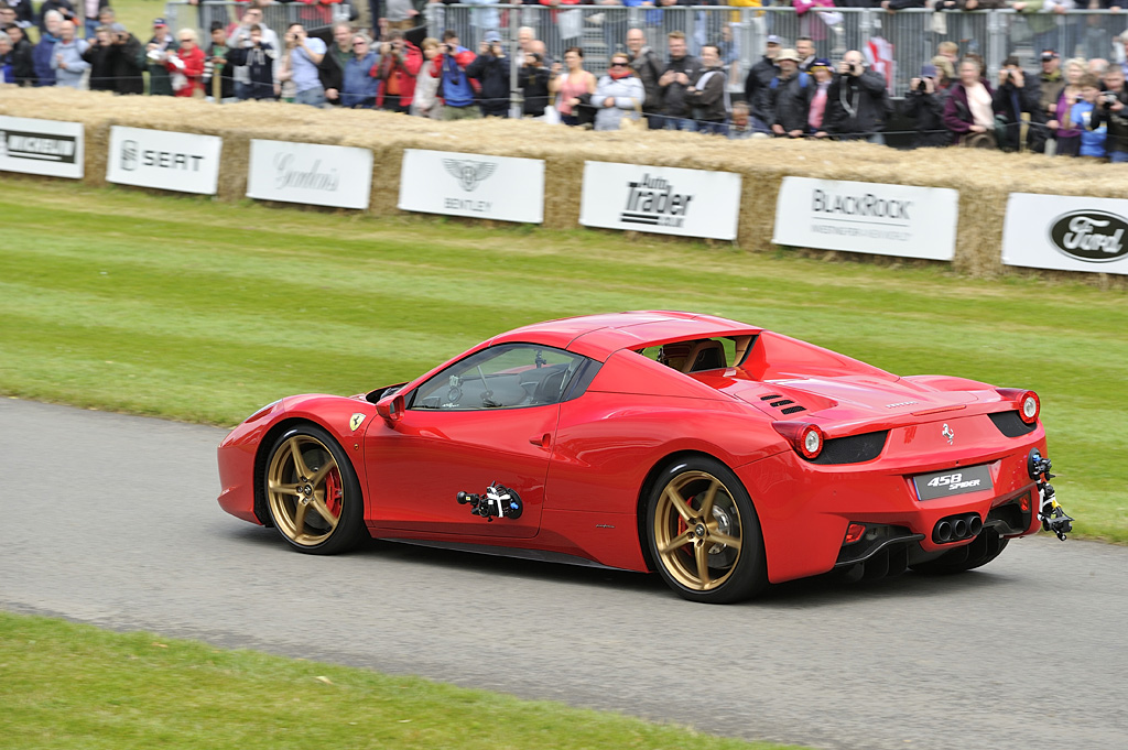
[[0,115],[0,171],[82,179],[82,123]]

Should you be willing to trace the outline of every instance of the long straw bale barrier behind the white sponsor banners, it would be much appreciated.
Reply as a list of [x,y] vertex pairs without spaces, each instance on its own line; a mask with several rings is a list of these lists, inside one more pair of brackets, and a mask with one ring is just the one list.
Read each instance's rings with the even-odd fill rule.
[[[446,123],[372,111],[263,102],[215,106],[171,97],[10,86],[0,86],[0,114],[83,123],[85,182],[91,185],[105,184],[111,125],[220,135],[219,197],[226,201],[245,196],[250,139],[371,149],[369,211],[374,215],[402,213],[396,204],[404,149],[544,159],[545,226],[549,228],[578,224],[585,160],[734,171],[743,183],[738,245],[751,252],[774,247],[775,203],[785,176],[950,187],[960,193],[954,268],[973,276],[1003,272],[999,255],[1008,193],[1128,195],[1128,169],[1086,159],[982,150],[905,152],[869,143],[730,141],[677,132],[594,133],[528,121]],[[1103,279],[1103,283],[1120,282]]]

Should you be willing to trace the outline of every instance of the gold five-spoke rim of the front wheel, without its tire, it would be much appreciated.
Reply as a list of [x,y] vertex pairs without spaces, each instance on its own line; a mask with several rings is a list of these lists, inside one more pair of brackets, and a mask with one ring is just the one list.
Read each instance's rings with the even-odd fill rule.
[[341,469],[320,440],[297,434],[277,447],[266,469],[266,502],[294,544],[315,547],[333,536],[343,500]]

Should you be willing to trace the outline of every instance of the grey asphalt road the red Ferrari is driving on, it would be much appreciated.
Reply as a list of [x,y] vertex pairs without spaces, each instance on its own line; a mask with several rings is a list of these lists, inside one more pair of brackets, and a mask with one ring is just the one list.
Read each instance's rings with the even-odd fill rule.
[[219,509],[222,434],[0,400],[0,608],[825,748],[1128,744],[1128,549],[1038,537],[733,607],[391,542],[319,558]]

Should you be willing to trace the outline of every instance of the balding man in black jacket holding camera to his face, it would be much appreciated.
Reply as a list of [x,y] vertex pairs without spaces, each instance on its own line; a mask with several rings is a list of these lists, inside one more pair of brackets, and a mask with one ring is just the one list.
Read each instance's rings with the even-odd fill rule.
[[851,50],[838,63],[838,72],[827,91],[826,130],[838,140],[865,139],[884,145],[885,118],[892,112],[885,79],[867,70],[865,58]]

